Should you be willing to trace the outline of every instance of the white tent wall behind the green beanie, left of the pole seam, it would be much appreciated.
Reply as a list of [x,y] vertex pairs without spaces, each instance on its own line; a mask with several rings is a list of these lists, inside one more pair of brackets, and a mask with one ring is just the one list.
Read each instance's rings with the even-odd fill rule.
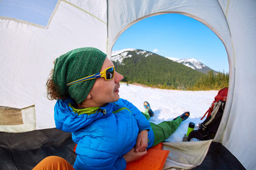
[[46,28],[0,17],[1,106],[35,105],[36,128],[55,127],[55,102],[46,98],[46,80],[53,61],[78,47],[107,48],[107,3],[93,2],[87,1],[94,6],[90,8],[80,1],[58,1]]

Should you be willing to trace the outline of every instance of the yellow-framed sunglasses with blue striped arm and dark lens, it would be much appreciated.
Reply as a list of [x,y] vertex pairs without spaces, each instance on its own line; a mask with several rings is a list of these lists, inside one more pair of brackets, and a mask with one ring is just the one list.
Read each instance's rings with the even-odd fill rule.
[[88,77],[84,77],[82,79],[72,81],[72,82],[68,83],[67,85],[71,86],[73,84],[76,84],[76,83],[79,83],[79,82],[82,82],[82,81],[97,79],[97,78],[100,78],[100,77],[104,77],[105,80],[112,80],[114,78],[114,67],[113,66],[112,67],[107,67],[107,69],[104,69],[102,72],[98,72],[98,73],[92,74]]

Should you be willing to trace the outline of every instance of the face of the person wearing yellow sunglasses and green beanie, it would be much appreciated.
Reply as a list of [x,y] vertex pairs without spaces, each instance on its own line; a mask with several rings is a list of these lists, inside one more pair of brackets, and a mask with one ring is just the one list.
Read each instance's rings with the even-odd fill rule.
[[[102,70],[107,67],[111,67],[114,64],[106,57],[102,68]],[[119,100],[119,81],[121,81],[124,77],[122,74],[118,72],[114,72],[114,78],[112,80],[105,80],[104,78],[98,78],[95,81],[95,84],[92,86],[90,90],[90,100],[95,103],[95,106],[103,106],[105,103],[110,103]]]

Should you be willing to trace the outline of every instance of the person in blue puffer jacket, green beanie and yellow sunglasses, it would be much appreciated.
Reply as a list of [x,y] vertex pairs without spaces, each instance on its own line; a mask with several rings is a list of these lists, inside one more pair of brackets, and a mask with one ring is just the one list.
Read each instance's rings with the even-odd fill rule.
[[125,169],[188,118],[187,112],[173,121],[149,123],[132,103],[119,98],[122,79],[105,53],[93,47],[55,60],[48,98],[58,100],[56,128],[72,132],[78,144],[75,169]]

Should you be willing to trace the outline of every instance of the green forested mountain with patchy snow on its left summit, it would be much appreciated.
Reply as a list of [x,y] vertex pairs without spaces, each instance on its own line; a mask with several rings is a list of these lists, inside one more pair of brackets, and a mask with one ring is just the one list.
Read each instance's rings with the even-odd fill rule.
[[203,76],[197,70],[146,50],[113,52],[111,60],[118,72],[124,75],[124,81],[147,86],[186,89]]

